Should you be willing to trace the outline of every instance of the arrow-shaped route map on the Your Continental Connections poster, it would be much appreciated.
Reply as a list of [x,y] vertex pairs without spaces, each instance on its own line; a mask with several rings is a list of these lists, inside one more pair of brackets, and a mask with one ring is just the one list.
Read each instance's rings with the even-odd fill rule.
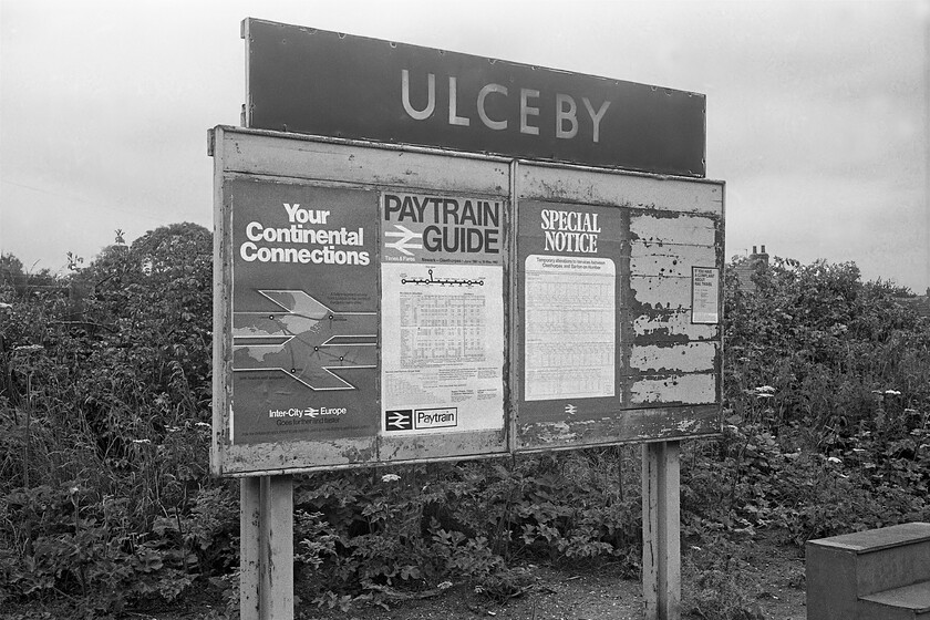
[[279,311],[232,313],[232,371],[281,373],[317,391],[355,390],[378,362],[374,312],[334,312],[302,290],[259,290]]

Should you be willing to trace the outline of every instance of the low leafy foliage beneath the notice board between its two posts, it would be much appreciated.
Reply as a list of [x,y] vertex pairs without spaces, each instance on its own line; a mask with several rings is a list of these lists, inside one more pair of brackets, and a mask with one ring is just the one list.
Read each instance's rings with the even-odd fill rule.
[[[619,494],[619,455],[610,448],[509,467],[489,461],[312,476],[294,499],[301,590],[324,582],[318,603],[344,606],[383,602],[399,586],[425,590],[455,580],[506,599],[527,585],[513,562],[540,555],[613,557],[636,574],[639,498]],[[340,598],[344,591],[354,598]]]

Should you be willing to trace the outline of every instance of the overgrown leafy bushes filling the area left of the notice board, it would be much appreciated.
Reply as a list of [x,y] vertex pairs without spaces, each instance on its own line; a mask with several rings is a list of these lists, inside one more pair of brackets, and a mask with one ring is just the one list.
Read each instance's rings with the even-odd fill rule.
[[235,561],[231,493],[207,476],[210,254],[169,226],[0,293],[0,599],[108,611]]

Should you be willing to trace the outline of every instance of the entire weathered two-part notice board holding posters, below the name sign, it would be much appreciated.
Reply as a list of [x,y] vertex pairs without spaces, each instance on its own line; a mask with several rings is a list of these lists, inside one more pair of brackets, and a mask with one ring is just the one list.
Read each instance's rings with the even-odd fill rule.
[[213,471],[714,434],[723,184],[216,127]]

